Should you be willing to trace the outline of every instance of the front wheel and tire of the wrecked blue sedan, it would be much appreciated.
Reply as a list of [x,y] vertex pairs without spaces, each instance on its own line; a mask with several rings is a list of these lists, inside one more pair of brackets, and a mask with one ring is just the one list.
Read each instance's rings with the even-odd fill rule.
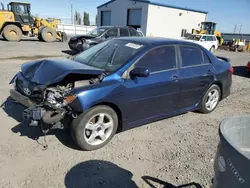
[[[99,120],[100,114],[104,115],[105,121],[112,119],[113,126],[104,130],[102,129],[102,127],[104,128],[104,124],[98,125],[97,122],[92,122],[92,124],[88,123],[89,121],[95,119],[94,117]],[[108,121],[105,124],[108,124],[109,122],[111,121]],[[91,125],[90,127],[93,128],[93,131],[88,129],[87,124]],[[108,106],[95,106],[73,120],[70,132],[73,140],[81,147],[81,149],[91,151],[105,146],[114,137],[117,128],[118,117],[116,112]],[[97,135],[95,139],[91,141],[92,143],[90,143],[90,140],[92,140],[90,139],[91,136],[94,135],[94,133],[99,134],[101,132],[104,133],[104,135],[107,134],[104,136],[105,139],[101,139],[101,137]]]

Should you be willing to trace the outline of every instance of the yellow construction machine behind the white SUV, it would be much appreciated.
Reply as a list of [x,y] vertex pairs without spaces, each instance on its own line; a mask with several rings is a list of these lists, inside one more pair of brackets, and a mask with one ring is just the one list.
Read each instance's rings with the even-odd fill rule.
[[214,22],[201,22],[200,30],[192,29],[192,34],[210,34],[215,35],[219,46],[224,42],[224,39],[219,31],[216,30],[216,23]]

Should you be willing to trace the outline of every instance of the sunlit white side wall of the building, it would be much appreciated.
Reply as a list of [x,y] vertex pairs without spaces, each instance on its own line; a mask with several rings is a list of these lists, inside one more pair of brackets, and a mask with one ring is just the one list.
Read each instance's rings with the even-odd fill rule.
[[[181,16],[180,16],[181,14]],[[191,33],[206,20],[205,13],[149,5],[146,35],[154,37],[180,38],[182,29]]]

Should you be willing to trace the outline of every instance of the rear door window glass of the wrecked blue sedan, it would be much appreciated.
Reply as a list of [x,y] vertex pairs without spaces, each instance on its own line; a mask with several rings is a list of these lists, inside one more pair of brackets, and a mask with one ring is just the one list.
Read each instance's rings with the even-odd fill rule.
[[180,46],[180,51],[182,58],[182,67],[204,64],[204,52],[200,48],[192,46]]

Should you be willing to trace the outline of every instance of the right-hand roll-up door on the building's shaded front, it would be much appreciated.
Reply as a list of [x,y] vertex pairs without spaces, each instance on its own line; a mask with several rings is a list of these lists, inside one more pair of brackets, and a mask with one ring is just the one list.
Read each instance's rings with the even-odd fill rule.
[[128,9],[127,25],[132,27],[141,26],[142,9]]

